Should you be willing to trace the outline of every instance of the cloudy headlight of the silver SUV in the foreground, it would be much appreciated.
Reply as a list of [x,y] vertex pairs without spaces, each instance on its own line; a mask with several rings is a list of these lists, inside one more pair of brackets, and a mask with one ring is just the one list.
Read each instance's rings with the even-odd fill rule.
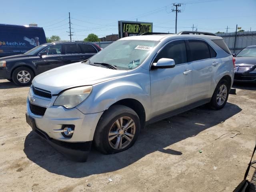
[[55,106],[64,106],[67,109],[74,108],[83,102],[92,92],[92,86],[83,86],[68,89],[60,94],[54,102]]

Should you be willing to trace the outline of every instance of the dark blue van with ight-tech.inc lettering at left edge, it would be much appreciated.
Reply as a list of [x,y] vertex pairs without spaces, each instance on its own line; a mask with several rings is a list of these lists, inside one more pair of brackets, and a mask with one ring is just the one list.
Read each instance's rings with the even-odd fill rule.
[[44,43],[42,27],[0,24],[0,57],[23,54]]

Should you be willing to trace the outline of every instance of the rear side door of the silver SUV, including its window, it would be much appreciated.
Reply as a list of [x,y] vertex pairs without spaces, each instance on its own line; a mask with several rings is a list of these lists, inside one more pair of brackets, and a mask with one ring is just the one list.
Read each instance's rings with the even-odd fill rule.
[[188,81],[188,104],[210,97],[214,78],[214,67],[218,63],[215,50],[204,40],[189,39],[188,70],[191,70]]

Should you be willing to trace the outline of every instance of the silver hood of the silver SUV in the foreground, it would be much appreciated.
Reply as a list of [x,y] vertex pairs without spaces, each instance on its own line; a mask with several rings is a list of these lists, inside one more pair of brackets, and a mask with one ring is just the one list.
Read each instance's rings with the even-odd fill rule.
[[97,84],[125,76],[127,73],[126,70],[113,70],[78,62],[46,71],[36,76],[32,84],[52,94],[58,94],[68,88]]

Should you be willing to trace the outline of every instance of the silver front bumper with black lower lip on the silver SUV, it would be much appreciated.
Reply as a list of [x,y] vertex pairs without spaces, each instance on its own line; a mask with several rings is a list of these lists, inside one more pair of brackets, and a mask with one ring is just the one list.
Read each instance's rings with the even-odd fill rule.
[[[51,99],[42,98],[30,89],[27,99],[26,120],[41,138],[44,138],[60,153],[76,161],[86,161],[90,151],[94,131],[103,112],[83,114],[77,108],[66,109],[62,106],[53,106],[57,96]],[[30,104],[46,108],[42,116],[30,110]],[[64,125],[73,125],[72,137],[65,137],[61,132]]]

